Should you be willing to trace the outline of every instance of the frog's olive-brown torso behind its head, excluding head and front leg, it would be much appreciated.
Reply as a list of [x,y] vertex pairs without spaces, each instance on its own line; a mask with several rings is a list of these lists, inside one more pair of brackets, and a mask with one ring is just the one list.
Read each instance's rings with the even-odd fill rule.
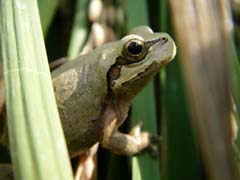
[[[107,69],[101,54],[81,56],[52,73],[53,86],[70,154],[85,150],[100,136],[98,119],[107,95]],[[91,57],[91,58],[90,58]]]

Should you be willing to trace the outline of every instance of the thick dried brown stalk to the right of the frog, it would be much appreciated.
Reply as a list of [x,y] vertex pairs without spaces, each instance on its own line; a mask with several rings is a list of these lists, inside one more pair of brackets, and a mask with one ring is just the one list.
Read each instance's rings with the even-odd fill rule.
[[230,128],[228,3],[170,0],[193,130],[206,172],[213,180],[237,179]]

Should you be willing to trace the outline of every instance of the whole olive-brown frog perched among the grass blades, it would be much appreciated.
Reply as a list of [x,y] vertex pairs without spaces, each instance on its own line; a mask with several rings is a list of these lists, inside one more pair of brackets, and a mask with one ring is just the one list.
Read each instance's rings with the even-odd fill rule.
[[138,134],[135,129],[123,134],[117,129],[127,117],[132,98],[173,59],[175,51],[174,41],[166,33],[153,33],[144,26],[53,71],[70,154],[85,151],[96,142],[123,155],[149,146],[147,132]]

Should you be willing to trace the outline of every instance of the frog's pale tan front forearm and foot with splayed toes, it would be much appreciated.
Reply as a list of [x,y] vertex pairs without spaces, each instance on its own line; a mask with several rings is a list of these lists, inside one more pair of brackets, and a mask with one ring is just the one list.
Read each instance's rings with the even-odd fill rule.
[[153,136],[148,132],[141,132],[142,123],[136,125],[129,134],[121,133],[117,130],[103,132],[101,144],[106,149],[120,155],[135,155],[144,149],[149,149],[152,156],[158,155],[157,146],[153,143],[159,142],[158,136]]

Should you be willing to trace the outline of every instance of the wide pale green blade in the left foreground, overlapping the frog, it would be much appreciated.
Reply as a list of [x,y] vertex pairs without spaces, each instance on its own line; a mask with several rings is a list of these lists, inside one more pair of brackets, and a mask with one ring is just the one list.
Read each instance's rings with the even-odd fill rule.
[[0,1],[1,55],[16,179],[72,179],[36,0]]

